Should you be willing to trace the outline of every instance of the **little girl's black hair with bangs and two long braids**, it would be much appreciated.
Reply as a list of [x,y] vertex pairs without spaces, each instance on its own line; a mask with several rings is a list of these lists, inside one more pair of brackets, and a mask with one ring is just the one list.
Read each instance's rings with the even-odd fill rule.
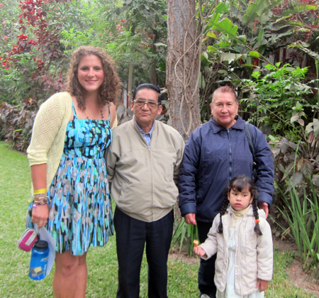
[[236,190],[237,192],[242,192],[242,190],[245,189],[246,187],[248,187],[248,190],[251,196],[253,197],[252,210],[254,211],[254,219],[255,219],[254,231],[258,235],[262,236],[262,231],[260,230],[260,226],[259,226],[259,214],[258,214],[258,206],[257,206],[257,196],[258,196],[257,187],[254,184],[254,182],[249,177],[246,177],[245,175],[240,175],[233,178],[233,180],[230,181],[228,188],[226,189],[223,206],[220,209],[220,223],[217,228],[218,233],[223,233],[222,216],[225,214],[228,208],[228,204],[229,204],[228,194],[230,194],[230,191],[232,189]]

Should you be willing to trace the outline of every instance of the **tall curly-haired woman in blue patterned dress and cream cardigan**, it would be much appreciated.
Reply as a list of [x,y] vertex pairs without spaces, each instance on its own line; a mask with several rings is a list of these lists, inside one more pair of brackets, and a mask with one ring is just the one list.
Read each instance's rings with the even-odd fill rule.
[[116,125],[120,83],[101,48],[72,53],[66,92],[47,99],[28,148],[33,202],[29,222],[55,238],[55,297],[85,297],[86,253],[113,234],[103,153]]

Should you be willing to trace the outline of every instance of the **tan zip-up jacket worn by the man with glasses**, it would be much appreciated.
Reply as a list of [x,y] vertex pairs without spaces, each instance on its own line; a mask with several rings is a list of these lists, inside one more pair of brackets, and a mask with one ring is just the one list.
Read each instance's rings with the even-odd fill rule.
[[179,195],[176,183],[183,153],[181,135],[162,122],[155,121],[150,146],[134,118],[115,128],[106,167],[118,208],[146,222],[167,215]]

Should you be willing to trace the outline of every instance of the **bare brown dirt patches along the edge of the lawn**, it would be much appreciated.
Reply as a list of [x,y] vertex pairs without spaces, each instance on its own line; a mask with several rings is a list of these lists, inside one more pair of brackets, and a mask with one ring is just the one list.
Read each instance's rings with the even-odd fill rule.
[[[296,243],[291,241],[278,241],[276,238],[274,240],[274,246],[279,248],[279,251],[293,251],[298,253],[296,249]],[[198,264],[198,259],[196,257],[189,257],[185,252],[179,253],[179,250],[171,250],[169,252],[169,260],[181,260],[187,264]],[[310,273],[305,273],[300,265],[298,258],[293,260],[291,266],[287,267],[285,270],[289,274],[289,280],[296,285],[296,287],[301,287],[309,294],[314,294],[319,298],[319,281],[315,280]]]

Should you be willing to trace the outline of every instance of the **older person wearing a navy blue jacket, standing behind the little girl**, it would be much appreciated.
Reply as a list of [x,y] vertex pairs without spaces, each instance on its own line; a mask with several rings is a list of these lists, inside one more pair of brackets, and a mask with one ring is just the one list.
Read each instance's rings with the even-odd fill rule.
[[[245,121],[237,115],[234,90],[220,87],[213,93],[212,118],[196,128],[186,143],[179,171],[179,208],[185,222],[196,225],[203,243],[223,204],[225,188],[237,175],[252,177],[253,158],[245,133]],[[268,215],[274,192],[274,162],[267,140],[250,124],[257,161],[259,208]],[[200,297],[216,297],[213,282],[216,255],[201,260],[198,270]]]

